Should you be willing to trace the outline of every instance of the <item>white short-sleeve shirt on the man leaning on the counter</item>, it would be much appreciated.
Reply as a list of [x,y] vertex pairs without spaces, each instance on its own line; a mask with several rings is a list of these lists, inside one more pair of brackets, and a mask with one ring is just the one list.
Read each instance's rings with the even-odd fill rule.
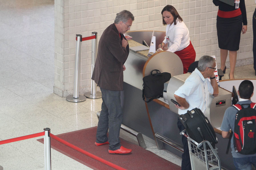
[[204,78],[197,68],[186,79],[185,83],[174,92],[177,96],[185,98],[189,104],[189,108],[178,109],[178,114],[185,114],[187,110],[199,108],[203,113],[206,111],[206,106],[210,94],[213,94],[213,87],[208,78]]

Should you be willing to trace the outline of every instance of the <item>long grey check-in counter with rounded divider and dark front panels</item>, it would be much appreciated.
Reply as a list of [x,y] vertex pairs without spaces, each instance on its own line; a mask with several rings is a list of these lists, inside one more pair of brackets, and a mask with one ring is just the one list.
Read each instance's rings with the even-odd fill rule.
[[[157,33],[159,36],[156,35],[156,32],[154,33],[156,41],[161,43],[165,32],[158,31]],[[129,46],[134,47],[141,46],[142,41],[147,39],[149,39],[147,43],[150,44],[152,31],[128,32],[127,34],[133,37],[132,40],[128,40]],[[148,50],[135,52],[130,49],[128,59],[125,62],[124,91],[121,96],[123,98],[123,124],[151,139],[155,139],[155,133],[160,133],[182,145],[181,136],[177,128],[178,115],[176,108],[174,105],[172,106],[172,104],[163,100],[163,98],[154,99],[150,103],[145,103],[142,100],[142,78],[155,69],[161,72],[169,72],[172,78],[168,84],[167,91],[174,93],[184,83],[189,74],[183,75],[181,60],[172,52],[157,52],[150,57],[147,54]],[[206,116],[214,124],[214,127],[217,128],[221,125],[225,109],[231,105],[231,92],[219,88],[219,95],[211,95],[210,98],[212,102],[208,106],[209,109],[207,110]],[[221,100],[226,100],[226,104],[217,106],[216,103]],[[219,133],[217,134],[219,143],[216,147],[221,148],[219,153],[222,155],[219,155],[219,157],[221,158],[222,166],[232,169],[234,166],[229,163],[232,161],[231,152],[229,155],[224,154],[224,148],[226,148],[228,141],[222,139],[220,130],[215,129],[215,131]],[[164,147],[166,150],[181,157],[182,153],[180,151],[165,143]]]

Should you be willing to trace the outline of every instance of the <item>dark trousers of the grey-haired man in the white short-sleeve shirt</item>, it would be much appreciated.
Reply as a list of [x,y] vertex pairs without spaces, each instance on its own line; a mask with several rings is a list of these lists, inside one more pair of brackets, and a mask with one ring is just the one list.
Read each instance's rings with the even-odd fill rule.
[[[180,132],[185,129],[180,119],[178,119],[177,126]],[[187,138],[184,137],[184,135],[182,135],[181,140],[182,140],[183,149],[184,149],[184,153],[181,156],[182,158],[181,170],[191,170],[192,168],[191,168],[191,162],[189,157],[188,141],[187,141]]]

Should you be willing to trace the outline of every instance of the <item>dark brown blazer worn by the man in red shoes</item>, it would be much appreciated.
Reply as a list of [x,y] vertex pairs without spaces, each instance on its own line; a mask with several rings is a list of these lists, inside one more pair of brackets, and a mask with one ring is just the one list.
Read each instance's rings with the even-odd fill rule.
[[[121,34],[121,38],[124,35]],[[102,33],[92,78],[106,90],[123,90],[123,64],[129,55],[129,45],[122,47],[116,25],[111,24]],[[125,37],[124,37],[125,39]]]

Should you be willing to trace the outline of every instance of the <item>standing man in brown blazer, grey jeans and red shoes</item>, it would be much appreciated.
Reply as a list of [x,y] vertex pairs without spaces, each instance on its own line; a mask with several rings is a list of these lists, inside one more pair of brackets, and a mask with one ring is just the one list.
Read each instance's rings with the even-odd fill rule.
[[121,146],[119,133],[123,120],[120,94],[123,90],[124,62],[129,54],[129,45],[123,34],[130,29],[133,20],[132,13],[123,10],[117,13],[114,23],[102,33],[91,78],[102,92],[95,145],[109,144],[110,154],[128,154],[132,151]]

